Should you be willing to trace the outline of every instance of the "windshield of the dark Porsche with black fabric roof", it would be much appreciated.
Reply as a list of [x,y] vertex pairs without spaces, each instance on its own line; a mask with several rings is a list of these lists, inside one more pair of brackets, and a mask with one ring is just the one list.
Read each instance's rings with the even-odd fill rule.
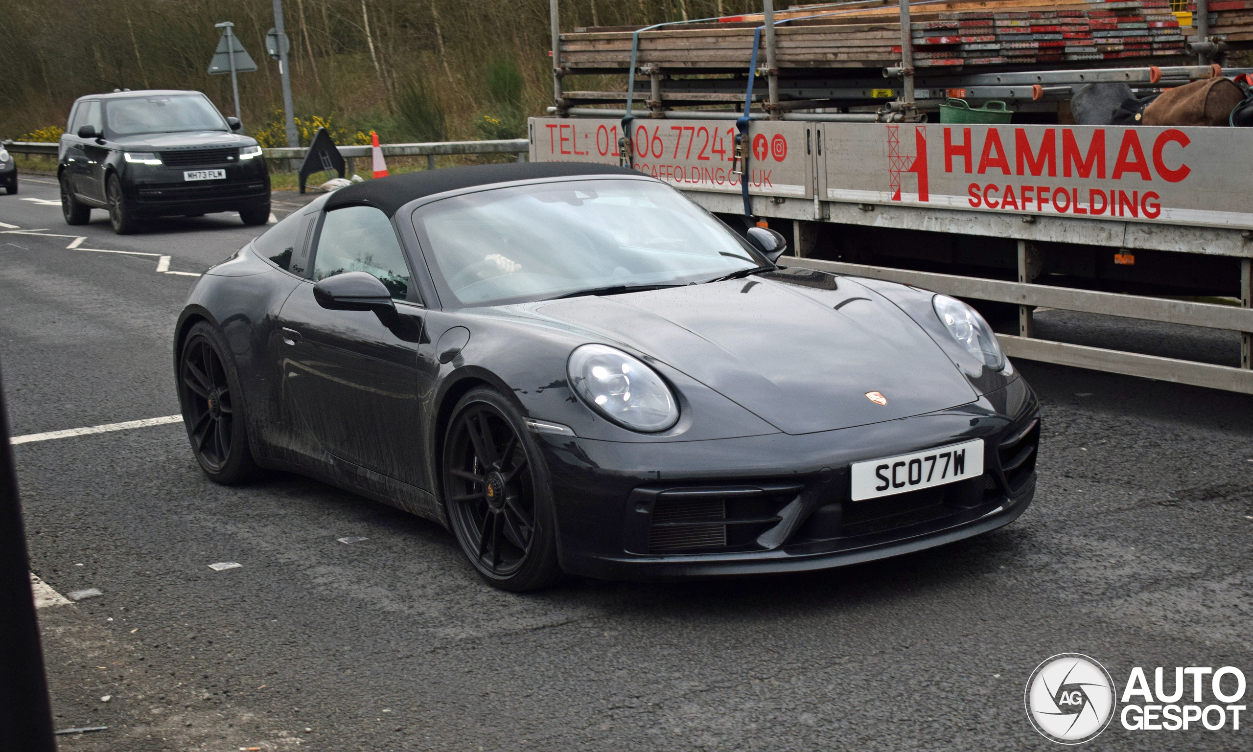
[[687,285],[768,264],[660,183],[571,180],[497,188],[413,218],[436,282],[462,305]]

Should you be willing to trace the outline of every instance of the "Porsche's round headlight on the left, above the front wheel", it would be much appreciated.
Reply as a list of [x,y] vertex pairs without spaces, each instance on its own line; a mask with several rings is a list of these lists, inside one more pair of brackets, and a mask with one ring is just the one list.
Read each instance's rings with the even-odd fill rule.
[[639,358],[606,345],[583,345],[566,363],[570,387],[593,410],[633,431],[664,431],[679,420],[670,389]]

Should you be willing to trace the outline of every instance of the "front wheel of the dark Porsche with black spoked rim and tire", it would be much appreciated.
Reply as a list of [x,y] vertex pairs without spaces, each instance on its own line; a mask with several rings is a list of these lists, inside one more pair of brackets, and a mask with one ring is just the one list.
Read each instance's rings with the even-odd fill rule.
[[548,467],[500,392],[480,387],[461,397],[441,467],[452,534],[487,584],[520,593],[563,578]]

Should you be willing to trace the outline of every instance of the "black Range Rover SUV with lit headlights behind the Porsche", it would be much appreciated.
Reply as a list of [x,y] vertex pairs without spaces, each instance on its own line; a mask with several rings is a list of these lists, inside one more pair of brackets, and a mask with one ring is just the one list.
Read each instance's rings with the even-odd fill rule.
[[237,134],[199,91],[115,91],[80,97],[60,143],[61,212],[85,224],[108,209],[125,234],[155,217],[239,212],[269,219],[269,170],[257,140]]

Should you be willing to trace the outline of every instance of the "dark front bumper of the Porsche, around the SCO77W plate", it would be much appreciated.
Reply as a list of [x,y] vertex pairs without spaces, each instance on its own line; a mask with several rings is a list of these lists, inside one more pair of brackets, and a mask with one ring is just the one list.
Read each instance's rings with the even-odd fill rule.
[[[604,579],[809,572],[1014,521],[1035,493],[1039,405],[1022,379],[976,402],[792,436],[619,444],[543,436],[561,567]],[[984,439],[981,476],[850,500],[850,464]]]

